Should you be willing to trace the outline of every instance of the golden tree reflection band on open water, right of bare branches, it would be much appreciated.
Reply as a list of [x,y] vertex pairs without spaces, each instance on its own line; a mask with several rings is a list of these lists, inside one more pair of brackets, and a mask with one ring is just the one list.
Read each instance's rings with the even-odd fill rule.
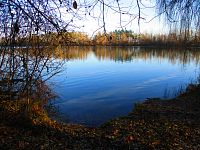
[[170,63],[183,65],[191,61],[196,64],[200,61],[200,51],[195,49],[161,49],[142,47],[63,47],[57,48],[54,57],[62,59],[86,59],[93,52],[99,60],[110,59],[114,61],[132,61],[135,59],[163,59]]

